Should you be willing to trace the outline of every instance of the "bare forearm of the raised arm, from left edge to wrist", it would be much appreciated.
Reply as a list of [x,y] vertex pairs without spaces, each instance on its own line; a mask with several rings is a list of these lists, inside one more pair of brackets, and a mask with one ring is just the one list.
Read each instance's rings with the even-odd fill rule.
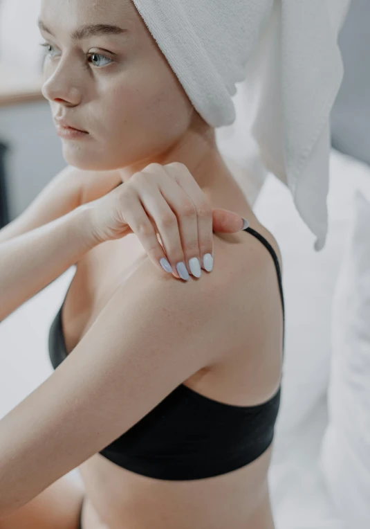
[[0,243],[0,322],[96,246],[87,222],[78,207]]

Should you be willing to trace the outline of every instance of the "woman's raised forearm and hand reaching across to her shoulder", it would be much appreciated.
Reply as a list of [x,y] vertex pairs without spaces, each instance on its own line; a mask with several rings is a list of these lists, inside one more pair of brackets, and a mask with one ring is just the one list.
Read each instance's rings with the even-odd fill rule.
[[[164,249],[158,242],[153,222],[142,208],[142,201],[145,203],[152,192],[153,186],[147,186],[149,181],[154,181],[157,186],[163,183],[168,192],[166,197],[158,192],[158,207],[155,213],[154,210],[150,212],[154,221],[163,228],[160,231],[161,239],[164,235],[167,246],[172,246],[174,252],[174,255],[168,256],[171,264],[167,263],[167,272],[173,271],[176,263],[184,261],[186,253],[189,255],[187,260],[194,257],[187,246],[194,249],[196,231],[199,230],[196,246],[201,248],[202,255],[207,255],[212,252],[210,234],[213,230],[234,233],[244,225],[245,219],[237,213],[218,208],[212,210],[201,188],[182,163],[170,163],[166,166],[167,169],[152,163],[146,169],[149,168],[147,172],[143,170],[134,174],[130,182],[122,186],[117,186],[117,174],[111,172],[115,178],[115,187],[108,195],[94,200],[90,193],[87,204],[19,237],[0,243],[0,322],[80,260],[84,253],[105,240],[114,240],[138,231],[139,240],[149,258],[162,271],[159,262],[161,258],[165,258]],[[98,172],[97,178],[91,183],[90,189],[98,189],[100,195],[104,188],[102,172]],[[83,189],[84,184],[81,185]],[[45,208],[44,199],[42,203]],[[127,220],[122,216],[122,209]],[[174,215],[174,210],[177,215]],[[182,231],[178,226],[178,217],[182,219]],[[194,226],[198,226],[198,230],[194,231]],[[185,249],[181,247],[183,240]],[[207,269],[208,265],[204,266]],[[178,271],[176,274],[180,277]],[[198,277],[198,271],[195,274]]]

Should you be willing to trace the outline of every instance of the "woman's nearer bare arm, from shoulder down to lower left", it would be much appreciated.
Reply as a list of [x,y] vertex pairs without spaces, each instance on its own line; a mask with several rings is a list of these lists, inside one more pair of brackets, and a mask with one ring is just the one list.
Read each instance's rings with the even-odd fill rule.
[[243,343],[255,304],[250,280],[271,268],[251,267],[251,252],[214,238],[217,266],[201,280],[176,281],[145,260],[62,364],[0,420],[0,526]]

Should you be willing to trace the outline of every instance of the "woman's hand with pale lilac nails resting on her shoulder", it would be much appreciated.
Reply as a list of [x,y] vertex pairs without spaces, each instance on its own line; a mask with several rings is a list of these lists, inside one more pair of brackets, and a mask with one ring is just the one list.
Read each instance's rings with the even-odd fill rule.
[[156,267],[186,280],[188,272],[200,277],[201,267],[212,270],[212,231],[246,227],[237,213],[212,210],[183,163],[151,163],[82,208],[89,209],[96,244],[135,233]]

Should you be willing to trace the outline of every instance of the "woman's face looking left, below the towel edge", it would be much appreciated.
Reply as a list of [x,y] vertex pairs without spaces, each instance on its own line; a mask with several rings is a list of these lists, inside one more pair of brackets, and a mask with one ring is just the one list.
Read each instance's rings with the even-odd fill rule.
[[[41,0],[39,20],[47,44],[42,93],[54,118],[89,133],[62,138],[70,165],[141,168],[199,118],[131,0]],[[94,33],[84,30],[95,24]]]

